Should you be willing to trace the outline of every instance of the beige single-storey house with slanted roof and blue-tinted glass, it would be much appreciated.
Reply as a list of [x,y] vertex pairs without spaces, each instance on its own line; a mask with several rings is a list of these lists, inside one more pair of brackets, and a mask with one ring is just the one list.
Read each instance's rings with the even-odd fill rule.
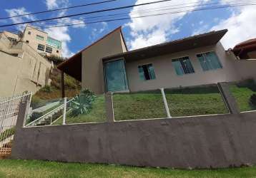
[[225,51],[220,43],[225,33],[226,29],[212,31],[128,51],[119,27],[58,68],[95,93],[256,79],[255,61],[239,61],[232,51]]

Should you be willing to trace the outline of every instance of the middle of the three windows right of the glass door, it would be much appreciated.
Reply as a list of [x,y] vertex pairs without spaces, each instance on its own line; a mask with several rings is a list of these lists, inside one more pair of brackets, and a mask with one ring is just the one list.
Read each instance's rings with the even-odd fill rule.
[[172,65],[175,68],[177,75],[184,75],[188,73],[195,73],[189,57],[177,58],[172,60]]

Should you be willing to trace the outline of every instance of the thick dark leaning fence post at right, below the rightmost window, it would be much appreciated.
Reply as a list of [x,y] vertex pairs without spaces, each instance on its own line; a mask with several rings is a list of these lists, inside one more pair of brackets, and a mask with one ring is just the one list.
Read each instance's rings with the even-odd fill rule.
[[230,111],[230,114],[240,113],[240,109],[237,106],[237,102],[230,92],[230,86],[227,82],[217,83],[217,86],[220,90],[220,94],[227,106],[227,109]]

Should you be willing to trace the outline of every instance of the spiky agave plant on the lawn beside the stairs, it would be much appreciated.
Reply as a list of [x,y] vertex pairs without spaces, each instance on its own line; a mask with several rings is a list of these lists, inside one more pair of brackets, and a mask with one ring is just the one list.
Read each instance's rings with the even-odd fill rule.
[[88,89],[84,89],[81,93],[74,97],[71,103],[72,116],[87,114],[92,109],[96,95]]

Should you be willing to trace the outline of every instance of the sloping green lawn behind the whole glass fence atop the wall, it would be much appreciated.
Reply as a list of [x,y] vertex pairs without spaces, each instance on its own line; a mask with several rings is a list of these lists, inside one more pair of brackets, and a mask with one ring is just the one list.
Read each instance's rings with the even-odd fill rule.
[[[252,89],[230,85],[241,111],[255,110],[250,105]],[[227,113],[227,108],[217,86],[165,90],[172,117],[189,115],[212,115]],[[167,117],[162,95],[159,91],[114,94],[115,120],[137,120]],[[67,117],[67,123],[104,122],[106,120],[104,96],[99,95],[92,111],[87,115]],[[61,120],[55,124],[61,124]]]

